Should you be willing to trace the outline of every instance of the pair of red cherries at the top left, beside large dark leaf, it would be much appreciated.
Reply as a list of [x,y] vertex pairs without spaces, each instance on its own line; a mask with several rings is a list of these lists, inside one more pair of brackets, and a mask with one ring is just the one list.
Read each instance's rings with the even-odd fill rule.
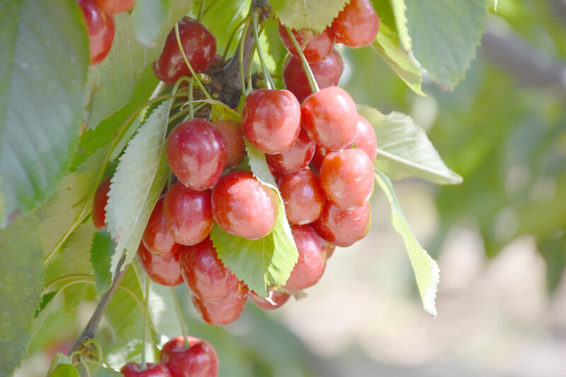
[[83,11],[88,33],[91,64],[104,60],[114,41],[114,14],[134,8],[135,0],[77,0]]

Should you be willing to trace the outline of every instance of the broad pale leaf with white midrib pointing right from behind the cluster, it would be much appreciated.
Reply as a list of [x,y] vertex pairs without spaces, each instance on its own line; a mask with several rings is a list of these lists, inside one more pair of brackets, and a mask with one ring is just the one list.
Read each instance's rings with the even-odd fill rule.
[[450,170],[418,124],[408,115],[383,115],[358,105],[359,115],[374,127],[377,137],[376,168],[392,179],[419,177],[439,185],[458,185],[462,177]]

